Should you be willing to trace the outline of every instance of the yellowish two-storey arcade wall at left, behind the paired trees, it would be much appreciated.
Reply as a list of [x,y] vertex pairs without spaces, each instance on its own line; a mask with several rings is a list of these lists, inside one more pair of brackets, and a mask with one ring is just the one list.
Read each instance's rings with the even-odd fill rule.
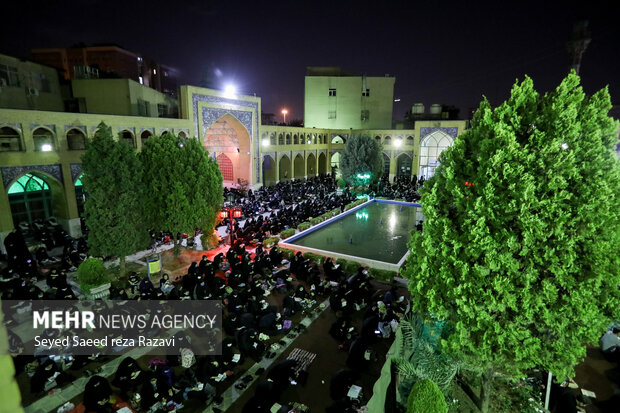
[[[82,173],[83,150],[70,150],[67,132],[82,131],[91,139],[97,126],[105,122],[113,133],[129,132],[134,137],[137,150],[142,148],[140,136],[160,135],[165,131],[174,134],[183,132],[190,136],[192,123],[186,119],[145,118],[136,116],[111,116],[96,114],[30,111],[0,109],[0,128],[10,127],[17,131],[25,150],[0,152],[0,177],[3,191],[0,191],[0,242],[10,232],[14,223],[8,198],[8,189],[23,174],[35,171],[47,177],[54,194],[54,213],[59,222],[71,235],[79,235],[80,223],[75,199],[74,183]],[[37,152],[33,131],[48,130],[54,137],[54,151]],[[3,244],[0,244],[3,246]]]

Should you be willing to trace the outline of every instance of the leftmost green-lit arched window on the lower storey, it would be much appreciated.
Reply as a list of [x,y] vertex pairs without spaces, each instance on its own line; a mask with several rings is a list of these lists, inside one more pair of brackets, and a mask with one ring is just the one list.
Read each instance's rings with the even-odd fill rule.
[[9,187],[9,204],[15,226],[20,222],[33,223],[53,215],[52,192],[42,178],[25,174]]

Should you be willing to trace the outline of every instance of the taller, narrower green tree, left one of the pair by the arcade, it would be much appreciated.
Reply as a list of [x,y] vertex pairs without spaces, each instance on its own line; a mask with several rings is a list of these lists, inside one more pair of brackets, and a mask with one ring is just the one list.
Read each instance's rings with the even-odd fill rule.
[[125,274],[125,257],[148,246],[142,211],[142,166],[136,151],[115,141],[103,122],[82,157],[84,205],[91,254],[119,257]]

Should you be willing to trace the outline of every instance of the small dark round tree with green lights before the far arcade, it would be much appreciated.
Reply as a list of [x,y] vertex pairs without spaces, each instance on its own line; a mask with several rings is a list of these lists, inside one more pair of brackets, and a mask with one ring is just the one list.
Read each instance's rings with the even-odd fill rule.
[[[379,182],[383,174],[381,145],[368,135],[352,135],[342,151],[340,170],[353,186]],[[369,174],[370,178],[359,178],[358,174]]]

